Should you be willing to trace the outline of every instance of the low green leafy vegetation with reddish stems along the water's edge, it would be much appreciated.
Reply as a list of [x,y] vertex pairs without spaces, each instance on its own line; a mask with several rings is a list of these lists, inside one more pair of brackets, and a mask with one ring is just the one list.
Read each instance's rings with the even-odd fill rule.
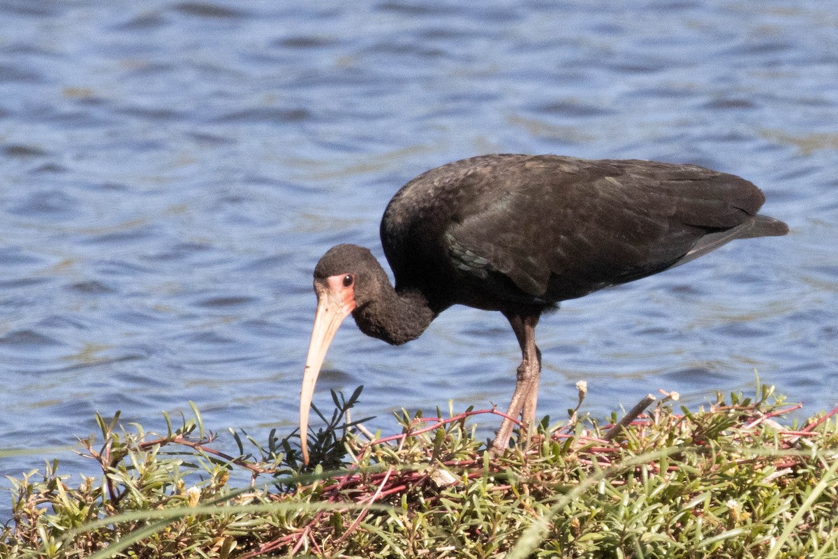
[[664,398],[617,437],[577,406],[494,456],[469,425],[494,410],[402,412],[370,441],[359,389],[333,395],[311,468],[295,435],[230,431],[220,453],[194,406],[162,435],[97,417],[80,452],[101,477],[13,479],[0,557],[838,557],[838,410],[783,425],[799,406],[772,392]]

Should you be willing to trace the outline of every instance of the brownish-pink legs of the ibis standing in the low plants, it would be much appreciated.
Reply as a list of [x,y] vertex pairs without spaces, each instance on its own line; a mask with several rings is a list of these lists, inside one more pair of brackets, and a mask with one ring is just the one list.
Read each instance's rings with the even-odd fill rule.
[[[538,401],[538,381],[541,377],[541,351],[535,346],[535,324],[539,315],[525,315],[504,313],[512,325],[515,337],[521,347],[521,364],[518,365],[515,392],[512,395],[510,409],[506,411],[508,417],[518,417],[523,420],[524,431],[529,436],[535,426],[535,404]],[[498,434],[494,437],[492,448],[495,452],[506,448],[512,436],[513,422],[504,417]]]

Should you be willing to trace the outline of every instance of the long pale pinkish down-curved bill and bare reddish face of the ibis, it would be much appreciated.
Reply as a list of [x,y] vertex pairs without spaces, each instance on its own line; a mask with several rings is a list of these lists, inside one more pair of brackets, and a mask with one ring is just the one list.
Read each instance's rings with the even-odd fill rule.
[[314,396],[314,385],[323,366],[328,345],[340,323],[355,308],[352,287],[344,287],[344,276],[328,277],[325,282],[314,282],[317,293],[317,313],[314,314],[312,339],[308,344],[306,368],[303,371],[303,390],[300,391],[300,446],[303,462],[308,463],[308,411]]

